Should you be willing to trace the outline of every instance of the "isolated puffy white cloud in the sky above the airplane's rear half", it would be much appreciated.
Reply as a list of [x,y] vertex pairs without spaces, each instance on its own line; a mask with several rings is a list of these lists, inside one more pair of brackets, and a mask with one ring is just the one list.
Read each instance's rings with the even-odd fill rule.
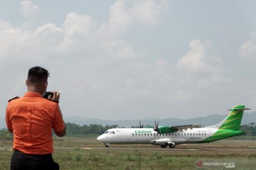
[[191,40],[190,50],[178,60],[177,67],[193,72],[215,72],[220,59],[209,53],[212,42]]

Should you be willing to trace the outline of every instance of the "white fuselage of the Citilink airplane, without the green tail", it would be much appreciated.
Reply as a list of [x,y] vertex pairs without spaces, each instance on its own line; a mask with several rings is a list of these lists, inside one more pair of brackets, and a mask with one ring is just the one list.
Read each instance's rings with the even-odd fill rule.
[[[152,144],[164,145],[166,142],[175,144],[201,142],[212,136],[215,128],[193,128],[166,134],[157,134],[153,128],[115,128],[97,137],[99,142],[110,144]],[[210,141],[209,141],[210,142]]]

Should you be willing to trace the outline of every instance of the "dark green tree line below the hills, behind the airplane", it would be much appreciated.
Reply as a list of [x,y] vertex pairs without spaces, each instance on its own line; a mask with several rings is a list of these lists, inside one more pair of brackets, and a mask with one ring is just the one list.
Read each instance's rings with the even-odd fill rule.
[[[75,123],[66,123],[66,136],[68,137],[82,137],[87,135],[101,135],[106,130],[111,128],[117,128],[118,125],[77,125]],[[137,127],[132,127],[137,128]],[[249,125],[240,125],[240,130],[245,131],[245,135],[256,136],[256,123],[250,123]],[[54,134],[54,133],[53,133]],[[12,134],[6,129],[0,130],[1,137],[12,136]]]

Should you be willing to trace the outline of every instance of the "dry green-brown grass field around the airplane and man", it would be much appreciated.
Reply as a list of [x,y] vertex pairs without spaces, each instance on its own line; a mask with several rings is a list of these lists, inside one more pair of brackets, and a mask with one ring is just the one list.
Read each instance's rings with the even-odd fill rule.
[[[0,170],[9,169],[11,159],[11,138],[0,138]],[[96,137],[56,137],[53,158],[60,169],[198,169],[196,162],[233,162],[235,169],[256,169],[255,140],[220,140],[210,144],[177,145],[178,149],[144,150],[137,148],[158,148],[153,145],[111,145],[101,149],[102,143]],[[97,148],[97,149],[95,149]],[[221,149],[230,149],[222,151]],[[198,150],[193,150],[198,149]],[[219,150],[213,150],[219,149]],[[234,150],[232,150],[234,149]],[[220,169],[225,169],[223,166]],[[216,169],[206,166],[203,169]]]

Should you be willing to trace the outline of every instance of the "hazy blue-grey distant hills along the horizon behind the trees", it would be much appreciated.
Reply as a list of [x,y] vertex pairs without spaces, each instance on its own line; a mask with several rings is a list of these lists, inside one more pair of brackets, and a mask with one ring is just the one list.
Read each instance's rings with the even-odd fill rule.
[[[215,125],[219,123],[227,115],[208,115],[206,117],[197,117],[190,119],[178,119],[178,118],[166,118],[166,119],[157,119],[157,118],[145,118],[142,119],[142,125],[154,125],[154,120],[159,120],[159,125],[186,125],[198,123],[203,126]],[[119,127],[131,127],[139,124],[139,120],[101,120],[97,118],[82,118],[78,116],[64,117],[65,122],[75,123],[78,125],[90,125],[90,124],[99,124],[99,125],[119,125]],[[256,112],[244,113],[242,118],[242,125],[256,122]],[[0,128],[5,128],[5,118],[0,117]]]

